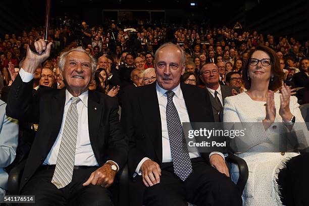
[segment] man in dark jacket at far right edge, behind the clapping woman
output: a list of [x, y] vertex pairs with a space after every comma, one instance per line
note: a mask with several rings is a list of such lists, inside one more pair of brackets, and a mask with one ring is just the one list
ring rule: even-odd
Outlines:
[[305, 87], [309, 81], [309, 58], [302, 58], [299, 62], [300, 72], [294, 74], [295, 87]]

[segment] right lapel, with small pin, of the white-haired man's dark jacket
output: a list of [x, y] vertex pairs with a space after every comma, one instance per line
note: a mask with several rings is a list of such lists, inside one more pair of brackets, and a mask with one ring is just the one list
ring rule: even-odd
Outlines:
[[[104, 105], [99, 104], [99, 98], [97, 94], [94, 91], [89, 90], [88, 94], [88, 129], [89, 129], [89, 139], [90, 144], [94, 153], [94, 157], [96, 161], [99, 163], [100, 156], [99, 156], [99, 148], [97, 146], [99, 145], [97, 142], [97, 131], [100, 126], [100, 120], [101, 117], [104, 115], [102, 114], [102, 111], [104, 110]], [[102, 135], [100, 138], [104, 138], [104, 135]]]

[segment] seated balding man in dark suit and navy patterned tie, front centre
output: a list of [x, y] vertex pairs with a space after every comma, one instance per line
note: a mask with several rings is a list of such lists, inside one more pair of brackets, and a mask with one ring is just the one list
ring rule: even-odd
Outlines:
[[[189, 152], [181, 122], [214, 122], [204, 89], [180, 84], [185, 54], [166, 43], [155, 55], [157, 82], [124, 97], [132, 205], [241, 205], [220, 152]], [[212, 167], [213, 166], [213, 167]]]

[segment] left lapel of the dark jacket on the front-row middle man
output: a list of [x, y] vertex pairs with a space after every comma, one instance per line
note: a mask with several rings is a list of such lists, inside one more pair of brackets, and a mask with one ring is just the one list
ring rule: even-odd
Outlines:
[[162, 161], [162, 126], [161, 115], [159, 109], [159, 101], [157, 96], [156, 83], [149, 85], [147, 89], [143, 89], [138, 96], [141, 109], [141, 115], [145, 121], [145, 131], [151, 136], [153, 135], [153, 144], [155, 147], [158, 160]]

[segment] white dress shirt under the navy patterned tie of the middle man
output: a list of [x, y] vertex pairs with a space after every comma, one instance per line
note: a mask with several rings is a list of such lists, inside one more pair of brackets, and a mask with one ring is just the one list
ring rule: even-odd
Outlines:
[[[158, 96], [158, 101], [159, 101], [161, 127], [162, 127], [162, 162], [168, 163], [168, 162], [172, 162], [172, 154], [171, 154], [170, 139], [169, 139], [168, 128], [167, 128], [167, 121], [166, 121], [167, 95], [165, 92], [167, 90], [161, 88], [158, 82], [156, 83], [156, 89], [157, 89], [157, 96]], [[178, 84], [178, 86], [172, 90], [175, 92], [175, 95], [173, 97], [173, 102], [177, 109], [180, 122], [181, 123], [190, 122], [185, 100], [183, 98], [183, 94], [180, 88], [180, 84]], [[195, 148], [194, 150], [197, 150], [197, 148]], [[224, 159], [223, 154], [220, 152], [212, 152], [210, 153], [210, 156], [213, 155], [214, 153], [218, 153]], [[197, 157], [200, 157], [200, 154], [198, 152], [189, 152], [189, 156], [190, 158], [197, 158]], [[135, 170], [136, 174], [141, 175], [140, 167], [146, 160], [149, 160], [149, 158], [145, 157], [139, 162]], [[133, 175], [133, 177], [134, 176], [135, 174]]]

